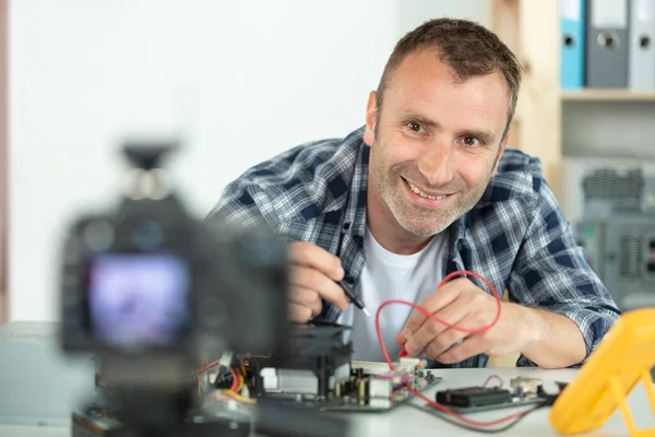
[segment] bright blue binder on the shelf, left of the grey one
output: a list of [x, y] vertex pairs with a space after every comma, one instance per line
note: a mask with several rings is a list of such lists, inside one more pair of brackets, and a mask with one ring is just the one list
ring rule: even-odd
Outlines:
[[560, 86], [584, 87], [585, 0], [560, 0]]

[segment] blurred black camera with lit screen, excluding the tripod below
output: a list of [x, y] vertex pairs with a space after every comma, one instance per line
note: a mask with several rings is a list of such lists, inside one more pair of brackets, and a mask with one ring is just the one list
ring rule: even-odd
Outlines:
[[[158, 167], [172, 144], [128, 144], [119, 208], [76, 220], [61, 274], [62, 347], [130, 358], [282, 352], [288, 338], [286, 243], [195, 220]], [[284, 356], [284, 355], [283, 355]]]

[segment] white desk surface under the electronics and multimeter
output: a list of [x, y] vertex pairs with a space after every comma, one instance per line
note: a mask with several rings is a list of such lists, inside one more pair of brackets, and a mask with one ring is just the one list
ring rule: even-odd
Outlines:
[[[437, 376], [443, 377], [443, 381], [432, 391], [429, 391], [428, 397], [432, 397], [437, 389], [463, 387], [469, 385], [481, 385], [489, 375], [498, 375], [508, 381], [516, 376], [528, 376], [541, 378], [544, 380], [553, 381], [571, 381], [576, 370], [560, 369], [560, 370], [544, 370], [531, 368], [503, 368], [503, 369], [437, 369]], [[413, 402], [421, 404], [422, 401], [415, 400]], [[638, 387], [629, 399], [630, 408], [638, 427], [653, 427], [655, 420], [646, 394], [641, 387]], [[500, 410], [496, 412], [486, 412], [473, 414], [469, 417], [479, 421], [489, 421], [503, 417], [519, 409]], [[500, 433], [499, 435], [508, 436], [560, 436], [550, 426], [548, 422], [549, 409], [537, 410], [529, 414], [521, 423], [511, 429]], [[413, 406], [402, 405], [386, 414], [349, 414], [352, 420], [353, 436], [377, 436], [377, 437], [397, 437], [397, 436], [480, 436], [481, 434], [462, 429], [455, 425], [449, 424], [439, 417], [434, 417], [428, 413], [424, 413]], [[429, 433], [429, 434], [428, 434]], [[311, 435], [309, 433], [308, 435]], [[56, 427], [27, 427], [27, 426], [0, 426], [0, 436], [12, 437], [70, 437], [69, 428]], [[609, 437], [609, 436], [628, 436], [623, 420], [618, 412], [597, 432], [577, 435], [577, 437]]]

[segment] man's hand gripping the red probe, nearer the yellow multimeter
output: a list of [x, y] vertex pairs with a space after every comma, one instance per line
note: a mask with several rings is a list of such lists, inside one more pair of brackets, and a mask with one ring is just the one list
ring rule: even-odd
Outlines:
[[[464, 277], [442, 285], [420, 305], [438, 318], [471, 330], [489, 326], [498, 312], [496, 298]], [[395, 341], [408, 355], [422, 351], [429, 359], [452, 364], [481, 353], [495, 356], [521, 352], [538, 341], [543, 332], [538, 323], [527, 308], [502, 303], [500, 319], [492, 328], [469, 334], [415, 310]]]

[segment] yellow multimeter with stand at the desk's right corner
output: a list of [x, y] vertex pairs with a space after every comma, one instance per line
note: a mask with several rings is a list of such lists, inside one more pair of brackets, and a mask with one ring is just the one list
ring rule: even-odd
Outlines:
[[618, 408], [631, 436], [655, 436], [655, 428], [636, 429], [627, 401], [642, 381], [655, 414], [654, 364], [655, 308], [624, 312], [559, 395], [550, 424], [561, 434], [585, 433], [602, 427]]

